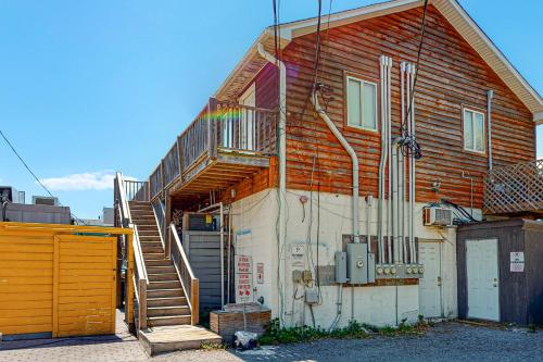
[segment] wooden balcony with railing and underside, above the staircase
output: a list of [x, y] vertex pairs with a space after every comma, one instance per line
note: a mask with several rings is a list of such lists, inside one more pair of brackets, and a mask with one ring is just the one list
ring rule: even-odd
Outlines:
[[210, 99], [149, 177], [150, 198], [166, 188], [198, 200], [269, 166], [276, 154], [277, 112]]

